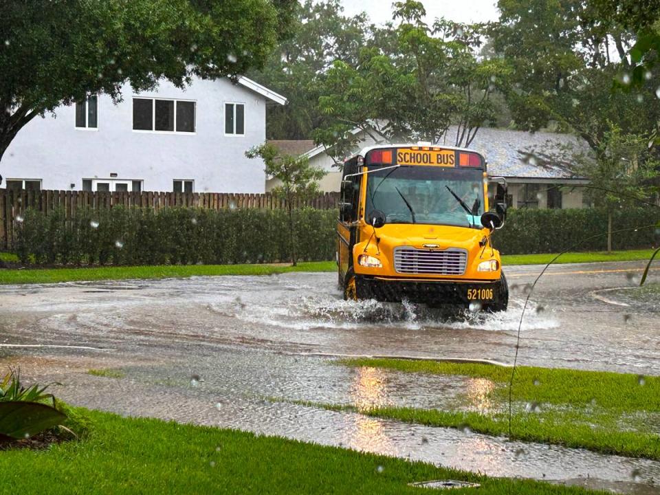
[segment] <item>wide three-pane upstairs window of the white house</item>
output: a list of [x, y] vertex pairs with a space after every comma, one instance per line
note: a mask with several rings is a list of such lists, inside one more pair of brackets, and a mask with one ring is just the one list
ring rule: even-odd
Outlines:
[[133, 130], [195, 132], [195, 102], [133, 98]]

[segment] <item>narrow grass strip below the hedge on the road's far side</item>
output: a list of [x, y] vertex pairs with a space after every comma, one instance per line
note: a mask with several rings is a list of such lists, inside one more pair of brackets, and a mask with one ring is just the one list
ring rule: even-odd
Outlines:
[[[583, 252], [563, 254], [556, 263], [591, 263], [602, 261], [635, 261], [650, 259], [652, 250]], [[4, 261], [18, 261], [15, 255], [0, 253]], [[12, 258], [13, 256], [13, 258]], [[502, 257], [506, 265], [538, 265], [548, 263], [555, 254], [512, 254]], [[315, 261], [289, 265], [155, 265], [131, 267], [25, 268], [0, 270], [0, 284], [58, 283], [74, 281], [125, 280], [148, 278], [185, 278], [208, 275], [271, 275], [287, 272], [334, 272], [334, 261]]]

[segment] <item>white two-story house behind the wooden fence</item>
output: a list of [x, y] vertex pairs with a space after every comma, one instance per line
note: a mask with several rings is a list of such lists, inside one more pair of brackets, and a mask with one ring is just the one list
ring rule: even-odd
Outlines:
[[90, 191], [264, 192], [266, 107], [286, 98], [242, 77], [162, 82], [123, 101], [107, 95], [34, 118], [0, 162], [0, 187]]

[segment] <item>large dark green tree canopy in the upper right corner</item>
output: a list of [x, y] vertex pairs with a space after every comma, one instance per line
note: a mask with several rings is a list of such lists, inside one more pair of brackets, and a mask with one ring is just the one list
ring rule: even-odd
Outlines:
[[[604, 14], [602, 1], [500, 0], [494, 48], [513, 69], [507, 93], [516, 123], [531, 131], [551, 120], [580, 135], [602, 153], [614, 127], [649, 135], [660, 118], [650, 73], [643, 91], [630, 84], [635, 30], [621, 16]], [[655, 83], [657, 85], [657, 83]]]

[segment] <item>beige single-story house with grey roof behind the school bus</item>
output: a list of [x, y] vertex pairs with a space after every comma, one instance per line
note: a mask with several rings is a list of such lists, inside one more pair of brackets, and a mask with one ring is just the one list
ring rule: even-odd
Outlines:
[[[365, 146], [377, 144], [371, 135], [355, 131], [360, 145], [353, 153]], [[439, 145], [452, 146], [450, 136]], [[384, 142], [382, 140], [380, 142]], [[326, 153], [325, 146], [315, 146], [313, 141], [270, 141], [289, 155], [305, 155], [309, 163], [322, 168], [327, 175], [320, 181], [324, 192], [340, 190], [340, 164]], [[479, 129], [470, 148], [482, 153], [487, 160], [490, 177], [505, 177], [509, 184], [507, 201], [512, 208], [583, 208], [588, 206], [583, 188], [586, 179], [575, 177], [566, 149], [584, 150], [586, 145], [573, 135], [511, 129]], [[275, 185], [274, 179], [266, 180], [266, 190]]]

